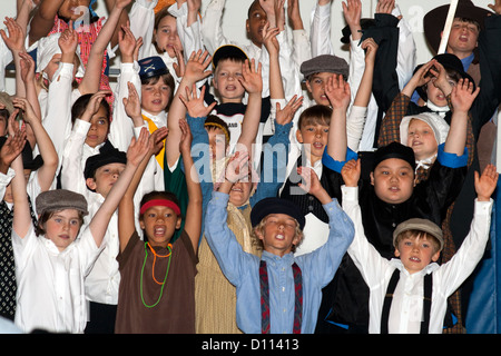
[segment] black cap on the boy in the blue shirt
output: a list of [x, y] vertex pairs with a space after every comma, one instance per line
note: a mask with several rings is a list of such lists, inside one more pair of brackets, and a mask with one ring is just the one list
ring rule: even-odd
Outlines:
[[304, 228], [306, 222], [304, 214], [296, 204], [287, 199], [271, 197], [261, 199], [250, 210], [250, 222], [253, 227], [257, 226], [269, 214], [288, 215], [297, 220], [301, 229]]

